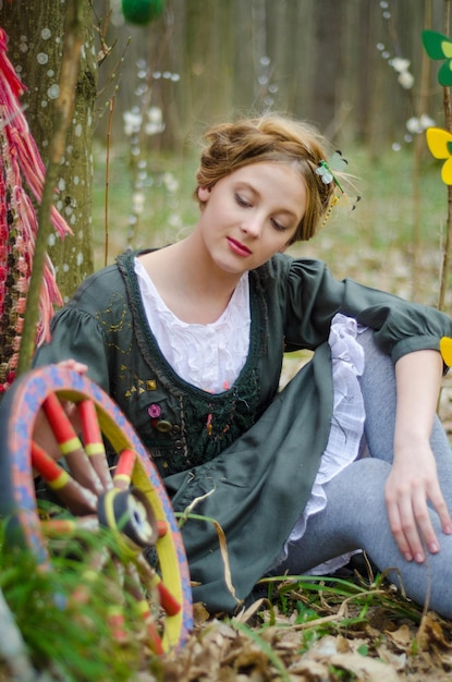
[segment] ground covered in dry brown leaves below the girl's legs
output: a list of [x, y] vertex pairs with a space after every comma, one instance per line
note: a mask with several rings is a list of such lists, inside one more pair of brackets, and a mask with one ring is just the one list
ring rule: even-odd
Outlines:
[[[399, 599], [386, 586], [390, 601]], [[363, 680], [447, 680], [452, 674], [452, 623], [426, 612], [419, 621], [398, 613], [371, 595], [365, 617], [362, 606], [329, 604], [325, 599], [317, 618], [300, 621], [265, 609], [245, 626], [246, 614], [234, 621], [198, 620], [185, 648], [162, 661], [151, 679], [232, 682], [335, 682]], [[296, 597], [295, 597], [296, 598]], [[410, 605], [408, 605], [410, 606]], [[410, 608], [407, 609], [410, 611]], [[199, 617], [199, 614], [198, 614]], [[354, 622], [356, 621], [356, 622]], [[327, 634], [321, 634], [328, 630]]]

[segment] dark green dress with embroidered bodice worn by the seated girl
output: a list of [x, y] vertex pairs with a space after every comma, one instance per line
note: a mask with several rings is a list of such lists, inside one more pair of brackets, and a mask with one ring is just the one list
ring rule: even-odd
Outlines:
[[[147, 322], [134, 273], [135, 253], [88, 278], [53, 318], [52, 339], [35, 364], [74, 357], [120, 405], [183, 512], [182, 535], [194, 599], [233, 612], [273, 565], [303, 513], [328, 442], [332, 414], [328, 336], [337, 313], [376, 330], [395, 362], [439, 350], [452, 320], [428, 306], [335, 280], [319, 260], [278, 254], [249, 272], [247, 361], [234, 385], [211, 394], [181, 379]], [[278, 391], [284, 351], [313, 360]], [[199, 499], [198, 499], [199, 498]]]

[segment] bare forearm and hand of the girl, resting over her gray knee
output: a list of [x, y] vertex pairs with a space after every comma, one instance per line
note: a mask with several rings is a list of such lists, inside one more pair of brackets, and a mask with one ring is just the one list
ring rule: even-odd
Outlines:
[[442, 531], [452, 534], [429, 442], [442, 367], [440, 353], [430, 350], [408, 353], [395, 364], [394, 460], [386, 484], [386, 503], [395, 541], [407, 561], [423, 562], [425, 548], [432, 553], [440, 549], [427, 500], [437, 511]]

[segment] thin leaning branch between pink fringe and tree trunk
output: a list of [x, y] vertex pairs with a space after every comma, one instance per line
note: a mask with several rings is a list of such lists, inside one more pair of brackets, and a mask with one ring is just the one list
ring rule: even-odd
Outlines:
[[58, 169], [64, 153], [65, 138], [74, 108], [75, 90], [78, 77], [81, 48], [83, 42], [82, 4], [83, 0], [69, 0], [66, 10], [66, 28], [64, 35], [63, 59], [60, 74], [60, 96], [56, 102], [54, 129], [49, 145], [49, 160], [42, 198], [38, 209], [38, 232], [36, 235], [33, 270], [27, 295], [24, 330], [17, 364], [17, 376], [27, 372], [36, 340], [39, 296], [42, 284], [45, 258], [50, 233], [50, 211], [54, 198]]

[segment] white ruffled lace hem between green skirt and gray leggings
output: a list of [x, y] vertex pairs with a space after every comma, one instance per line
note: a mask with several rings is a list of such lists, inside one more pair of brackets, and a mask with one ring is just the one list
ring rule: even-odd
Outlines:
[[[356, 338], [364, 327], [344, 315], [335, 315], [328, 342], [331, 348], [333, 378], [333, 414], [327, 448], [314, 482], [310, 498], [283, 549], [281, 560], [288, 556], [288, 543], [300, 541], [307, 520], [327, 506], [323, 486], [359, 455], [365, 410], [357, 377], [364, 372], [364, 351]], [[356, 552], [337, 557], [309, 571], [314, 575], [330, 573], [350, 560]]]

